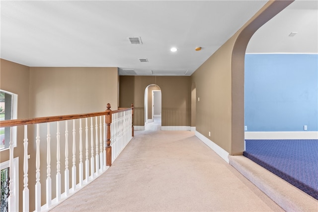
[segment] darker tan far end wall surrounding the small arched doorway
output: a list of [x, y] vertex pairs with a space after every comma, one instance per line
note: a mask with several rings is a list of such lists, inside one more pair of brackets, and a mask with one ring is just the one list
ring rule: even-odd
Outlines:
[[[190, 77], [120, 76], [120, 100], [134, 101], [134, 125], [145, 125], [145, 89], [153, 84], [161, 89], [161, 125], [190, 126]], [[131, 90], [134, 91], [133, 98]], [[128, 107], [128, 104], [127, 101], [120, 102], [121, 107]]]

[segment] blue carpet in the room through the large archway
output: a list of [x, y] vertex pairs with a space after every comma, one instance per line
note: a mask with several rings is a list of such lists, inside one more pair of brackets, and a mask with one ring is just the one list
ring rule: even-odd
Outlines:
[[318, 200], [318, 140], [245, 140], [243, 155]]

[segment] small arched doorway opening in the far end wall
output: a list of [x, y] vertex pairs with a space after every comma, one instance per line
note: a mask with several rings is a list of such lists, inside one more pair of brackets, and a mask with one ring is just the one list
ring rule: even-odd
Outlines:
[[155, 84], [145, 90], [145, 126], [151, 122], [161, 126], [161, 89]]

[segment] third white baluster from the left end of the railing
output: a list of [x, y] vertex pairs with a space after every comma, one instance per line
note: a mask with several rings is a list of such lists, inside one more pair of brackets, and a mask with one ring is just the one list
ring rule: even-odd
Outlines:
[[40, 183], [40, 130], [36, 124], [36, 184], [35, 184], [35, 211], [41, 211], [41, 183]]

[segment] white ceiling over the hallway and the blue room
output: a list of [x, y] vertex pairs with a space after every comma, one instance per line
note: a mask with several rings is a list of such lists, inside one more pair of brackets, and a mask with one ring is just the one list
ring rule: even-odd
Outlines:
[[[266, 2], [1, 0], [0, 57], [30, 67], [190, 76]], [[253, 35], [246, 52], [318, 53], [317, 11], [317, 0], [296, 0]]]

